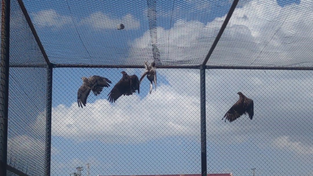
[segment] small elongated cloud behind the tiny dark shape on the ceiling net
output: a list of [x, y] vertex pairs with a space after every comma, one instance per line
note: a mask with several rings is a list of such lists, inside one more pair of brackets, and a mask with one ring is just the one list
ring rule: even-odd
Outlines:
[[95, 12], [90, 14], [87, 18], [81, 20], [82, 24], [90, 25], [95, 29], [116, 29], [119, 24], [124, 24], [125, 29], [138, 29], [140, 22], [134, 18], [130, 13], [122, 18], [111, 18], [102, 12]]

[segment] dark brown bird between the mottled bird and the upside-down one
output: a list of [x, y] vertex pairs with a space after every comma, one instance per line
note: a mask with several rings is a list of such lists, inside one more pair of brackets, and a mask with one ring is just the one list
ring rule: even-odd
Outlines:
[[138, 90], [139, 94], [139, 79], [136, 75], [127, 75], [125, 71], [122, 71], [121, 74], [123, 74], [121, 80], [119, 80], [110, 93], [108, 94], [109, 102], [115, 102], [120, 96], [122, 95], [132, 95], [133, 93]]

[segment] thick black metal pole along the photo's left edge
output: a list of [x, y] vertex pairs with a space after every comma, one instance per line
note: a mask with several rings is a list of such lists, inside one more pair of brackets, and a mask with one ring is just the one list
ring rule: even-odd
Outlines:
[[0, 175], [6, 176], [8, 155], [10, 0], [2, 0], [1, 6]]

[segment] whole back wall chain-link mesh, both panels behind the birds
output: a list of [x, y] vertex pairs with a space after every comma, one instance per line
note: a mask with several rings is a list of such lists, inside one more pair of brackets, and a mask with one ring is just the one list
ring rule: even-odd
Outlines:
[[[200, 173], [199, 70], [158, 69], [156, 91], [149, 94], [145, 78], [139, 95], [111, 104], [122, 70], [54, 70], [51, 174], [82, 166], [85, 175], [86, 163], [91, 175]], [[112, 84], [81, 109], [77, 89], [89, 75]], [[208, 173], [312, 174], [311, 78], [311, 71], [207, 70]], [[238, 91], [254, 100], [254, 118], [225, 123]]]

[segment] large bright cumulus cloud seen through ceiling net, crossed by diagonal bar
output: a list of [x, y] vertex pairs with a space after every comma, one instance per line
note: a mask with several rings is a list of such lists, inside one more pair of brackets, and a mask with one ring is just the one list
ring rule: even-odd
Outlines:
[[[235, 9], [209, 65], [312, 66], [313, 3], [309, 0], [284, 7], [276, 0], [245, 2]], [[163, 64], [200, 64], [208, 54], [226, 14], [212, 22], [178, 19], [170, 29], [158, 27], [157, 46]], [[151, 49], [149, 31], [131, 43]], [[150, 46], [150, 47], [148, 47]], [[141, 52], [131, 58], [144, 60]]]

